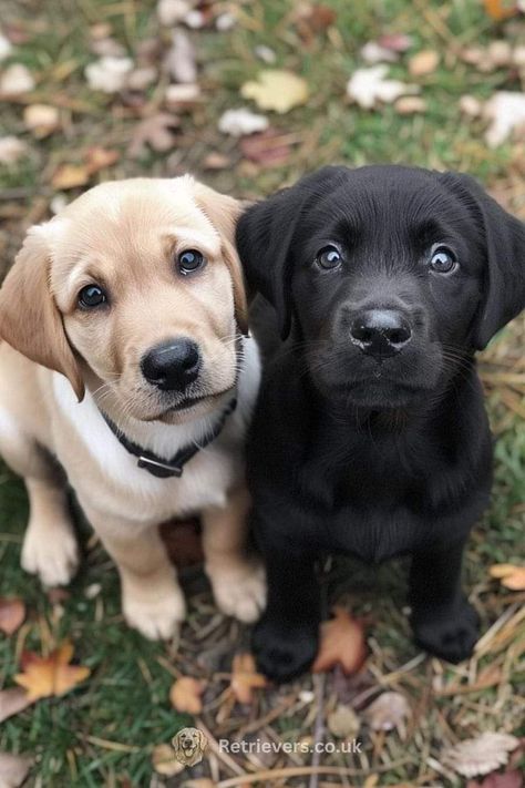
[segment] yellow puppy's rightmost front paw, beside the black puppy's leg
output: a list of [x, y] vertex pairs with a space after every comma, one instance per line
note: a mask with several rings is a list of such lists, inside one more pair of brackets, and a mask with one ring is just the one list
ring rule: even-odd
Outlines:
[[220, 569], [207, 566], [218, 607], [235, 618], [251, 624], [266, 605], [266, 576], [262, 566], [246, 562]]

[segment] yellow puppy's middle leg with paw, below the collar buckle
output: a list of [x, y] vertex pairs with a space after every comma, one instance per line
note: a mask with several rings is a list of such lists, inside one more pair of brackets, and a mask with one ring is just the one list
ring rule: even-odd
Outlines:
[[176, 636], [186, 605], [158, 528], [144, 528], [81, 504], [119, 570], [128, 625], [151, 641]]

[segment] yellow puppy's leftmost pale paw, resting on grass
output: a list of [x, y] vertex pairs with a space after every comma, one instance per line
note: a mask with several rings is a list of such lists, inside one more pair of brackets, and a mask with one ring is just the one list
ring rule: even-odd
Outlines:
[[30, 523], [23, 540], [22, 569], [43, 585], [68, 585], [79, 565], [79, 547], [69, 523]]

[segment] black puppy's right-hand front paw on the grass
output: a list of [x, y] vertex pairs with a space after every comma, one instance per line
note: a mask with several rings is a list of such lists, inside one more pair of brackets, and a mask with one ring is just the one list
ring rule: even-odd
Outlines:
[[419, 646], [441, 659], [459, 663], [472, 655], [478, 637], [480, 616], [466, 600], [460, 600], [447, 607], [414, 610], [412, 628]]

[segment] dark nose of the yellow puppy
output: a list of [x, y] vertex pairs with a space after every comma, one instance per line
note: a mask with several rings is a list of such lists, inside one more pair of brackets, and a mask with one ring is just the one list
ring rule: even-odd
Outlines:
[[191, 339], [172, 339], [143, 356], [142, 373], [163, 391], [184, 391], [196, 380], [200, 368], [198, 347]]

